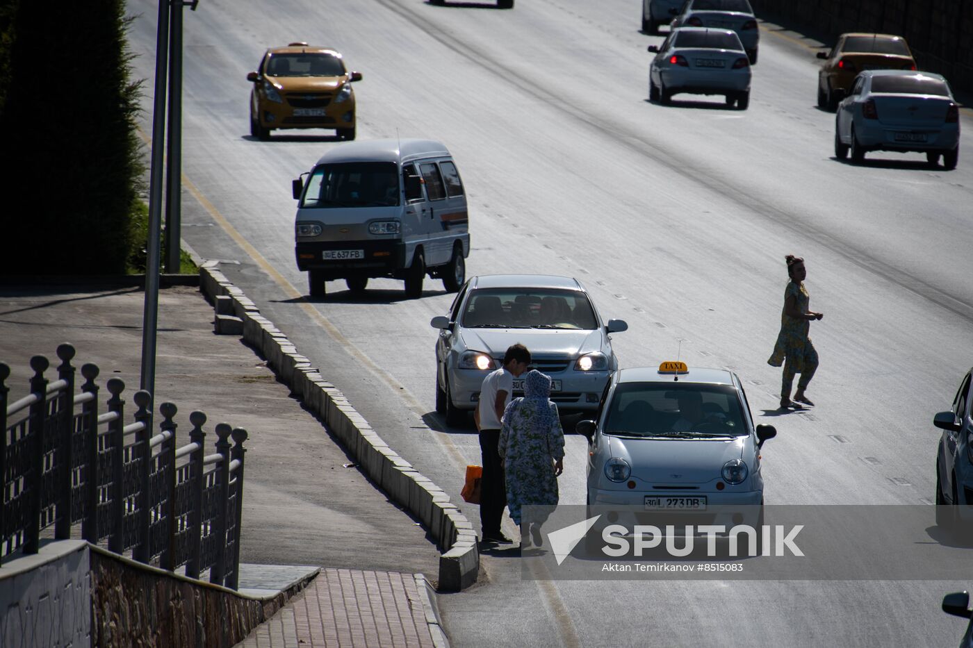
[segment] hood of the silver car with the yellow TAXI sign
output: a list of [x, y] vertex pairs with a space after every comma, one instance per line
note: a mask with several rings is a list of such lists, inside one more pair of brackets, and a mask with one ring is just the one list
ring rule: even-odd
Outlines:
[[719, 479], [723, 464], [742, 458], [746, 443], [745, 438], [605, 438], [611, 455], [629, 462], [633, 478], [656, 485], [705, 484]]

